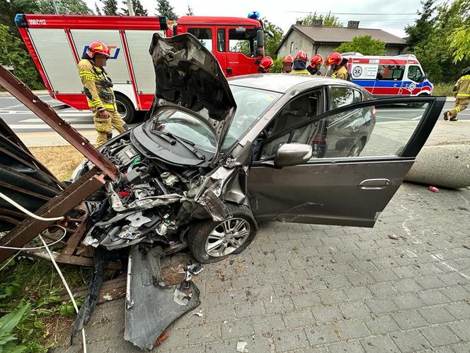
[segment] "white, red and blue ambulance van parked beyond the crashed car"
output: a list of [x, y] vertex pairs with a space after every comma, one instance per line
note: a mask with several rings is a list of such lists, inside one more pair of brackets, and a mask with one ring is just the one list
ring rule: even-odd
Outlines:
[[434, 86], [414, 55], [394, 57], [343, 53], [348, 59], [350, 80], [377, 98], [432, 94]]

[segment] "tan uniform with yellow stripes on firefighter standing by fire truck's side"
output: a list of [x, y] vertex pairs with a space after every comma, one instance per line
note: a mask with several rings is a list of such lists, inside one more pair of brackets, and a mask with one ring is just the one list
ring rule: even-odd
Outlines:
[[[96, 143], [102, 145], [113, 138], [112, 128], [118, 133], [124, 133], [127, 125], [117, 113], [113, 84], [105, 69], [96, 67], [91, 60], [82, 59], [79, 62], [79, 76], [84, 85], [88, 106], [93, 113], [93, 122], [98, 133]], [[107, 111], [110, 118], [101, 117], [101, 111]]]

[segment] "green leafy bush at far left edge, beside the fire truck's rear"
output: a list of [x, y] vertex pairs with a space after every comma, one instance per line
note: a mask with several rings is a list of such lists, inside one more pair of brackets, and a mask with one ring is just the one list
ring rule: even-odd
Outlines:
[[11, 67], [13, 74], [30, 89], [44, 89], [38, 70], [35, 68], [23, 42], [11, 33], [10, 28], [0, 24], [0, 64]]

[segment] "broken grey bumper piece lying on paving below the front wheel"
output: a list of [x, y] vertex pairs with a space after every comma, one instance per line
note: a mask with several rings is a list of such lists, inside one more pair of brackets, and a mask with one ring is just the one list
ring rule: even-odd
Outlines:
[[135, 245], [129, 255], [124, 339], [151, 350], [166, 327], [200, 305], [199, 289], [190, 276], [167, 285], [161, 276], [161, 247]]

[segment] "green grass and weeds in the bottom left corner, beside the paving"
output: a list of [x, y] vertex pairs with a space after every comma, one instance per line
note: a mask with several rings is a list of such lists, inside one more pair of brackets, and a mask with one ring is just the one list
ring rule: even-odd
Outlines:
[[[88, 270], [64, 264], [59, 267], [71, 288], [88, 281]], [[60, 299], [63, 290], [52, 262], [45, 259], [18, 256], [0, 270], [0, 317], [30, 306], [12, 332], [16, 344], [25, 347], [21, 352], [47, 352], [55, 344], [56, 331], [62, 329], [62, 325], [57, 328], [58, 323], [69, 325], [71, 320], [63, 320], [64, 316], [74, 318], [71, 302]], [[1, 348], [0, 342], [0, 352]]]

